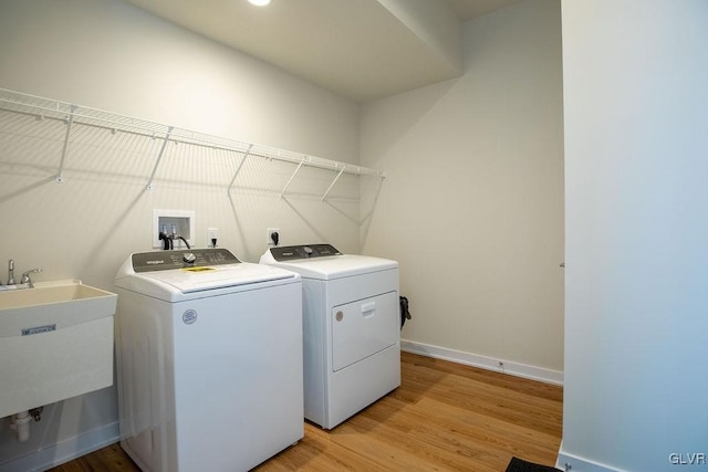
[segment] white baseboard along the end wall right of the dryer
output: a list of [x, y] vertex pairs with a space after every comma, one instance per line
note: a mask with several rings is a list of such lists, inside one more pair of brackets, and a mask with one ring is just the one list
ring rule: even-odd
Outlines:
[[559, 370], [545, 369], [542, 367], [528, 366], [525, 364], [513, 363], [511, 360], [480, 356], [478, 354], [464, 353], [461, 350], [448, 349], [446, 347], [431, 346], [429, 344], [415, 343], [400, 339], [400, 350], [419, 354], [421, 356], [434, 357], [436, 359], [449, 360], [467, 366], [480, 367], [487, 370], [509, 374], [546, 384], [563, 385], [563, 373]]

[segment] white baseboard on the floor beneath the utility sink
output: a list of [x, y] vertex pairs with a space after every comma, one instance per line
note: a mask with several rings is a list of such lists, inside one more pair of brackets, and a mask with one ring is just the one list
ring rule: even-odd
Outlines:
[[51, 444], [32, 454], [24, 455], [0, 465], [2, 472], [45, 471], [61, 465], [97, 449], [117, 442], [119, 439], [118, 422], [104, 424], [92, 431], [83, 432], [65, 441]]

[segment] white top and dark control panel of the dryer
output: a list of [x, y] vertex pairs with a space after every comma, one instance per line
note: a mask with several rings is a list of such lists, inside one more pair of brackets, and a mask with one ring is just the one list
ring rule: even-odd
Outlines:
[[[312, 252], [308, 249], [312, 249]], [[324, 252], [325, 249], [330, 254]], [[305, 279], [325, 281], [398, 269], [396, 261], [368, 255], [342, 254], [329, 244], [270, 248], [261, 256], [260, 262], [296, 272]]]

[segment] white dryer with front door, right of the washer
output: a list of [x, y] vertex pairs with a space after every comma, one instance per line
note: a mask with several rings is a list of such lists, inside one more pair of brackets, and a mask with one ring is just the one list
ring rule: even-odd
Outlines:
[[302, 276], [304, 416], [332, 429], [400, 385], [398, 263], [331, 244], [270, 248]]

